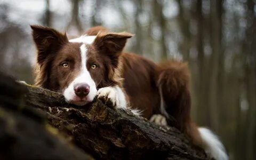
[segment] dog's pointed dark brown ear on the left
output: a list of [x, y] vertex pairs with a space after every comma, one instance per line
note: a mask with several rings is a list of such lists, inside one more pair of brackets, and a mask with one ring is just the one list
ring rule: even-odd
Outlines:
[[42, 63], [49, 54], [57, 52], [60, 47], [68, 43], [66, 34], [43, 26], [30, 26], [33, 30], [33, 39], [38, 51], [37, 62]]

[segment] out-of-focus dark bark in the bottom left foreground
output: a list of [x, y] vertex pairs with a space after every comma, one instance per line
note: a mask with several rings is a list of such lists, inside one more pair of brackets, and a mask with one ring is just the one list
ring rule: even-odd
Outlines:
[[0, 75], [0, 159], [92, 159], [58, 136], [38, 110], [25, 107], [26, 92]]

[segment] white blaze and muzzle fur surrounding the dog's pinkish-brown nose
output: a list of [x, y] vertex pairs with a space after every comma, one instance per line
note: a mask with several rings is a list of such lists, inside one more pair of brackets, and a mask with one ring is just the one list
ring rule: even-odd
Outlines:
[[[95, 82], [93, 81], [89, 71], [86, 68], [87, 49], [85, 44], [81, 45], [80, 50], [81, 50], [81, 60], [82, 60], [80, 74], [74, 79], [73, 82], [69, 84], [67, 89], [65, 89], [63, 95], [66, 101], [72, 102], [78, 106], [83, 106], [94, 99], [97, 93], [97, 89], [96, 89]], [[86, 83], [87, 85], [90, 86], [90, 92], [85, 98], [83, 98], [83, 100], [79, 100], [74, 91], [74, 86], [78, 83]]]

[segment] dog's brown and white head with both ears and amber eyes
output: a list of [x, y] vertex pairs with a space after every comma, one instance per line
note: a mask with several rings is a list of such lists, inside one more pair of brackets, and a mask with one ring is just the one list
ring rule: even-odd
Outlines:
[[31, 26], [37, 47], [36, 85], [60, 91], [75, 105], [91, 102], [97, 89], [115, 85], [115, 70], [127, 33], [99, 32], [68, 40], [66, 34]]

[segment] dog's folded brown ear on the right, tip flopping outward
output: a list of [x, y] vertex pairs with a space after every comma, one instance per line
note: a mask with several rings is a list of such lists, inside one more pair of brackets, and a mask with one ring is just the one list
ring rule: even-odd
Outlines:
[[119, 55], [124, 49], [126, 41], [133, 35], [130, 33], [109, 33], [108, 31], [99, 31], [94, 39], [93, 45], [101, 52], [108, 55]]

